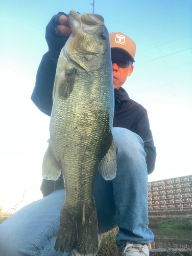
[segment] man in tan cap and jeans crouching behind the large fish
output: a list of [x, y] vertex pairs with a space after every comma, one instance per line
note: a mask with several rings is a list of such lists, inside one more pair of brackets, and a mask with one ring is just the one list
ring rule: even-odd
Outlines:
[[[63, 12], [55, 15], [46, 27], [49, 52], [41, 60], [32, 100], [47, 115], [51, 115], [52, 110], [57, 59], [70, 33]], [[122, 255], [147, 256], [148, 244], [154, 240], [147, 227], [148, 174], [154, 170], [156, 149], [147, 111], [122, 88], [133, 72], [135, 43], [123, 33], [110, 33], [110, 44], [115, 95], [112, 133], [117, 174], [112, 181], [105, 181], [99, 173], [95, 179], [99, 232], [118, 226], [116, 244]], [[43, 180], [41, 191], [43, 199], [22, 208], [0, 226], [2, 255], [79, 255], [73, 251], [62, 254], [54, 249], [65, 199], [62, 177], [56, 184]]]

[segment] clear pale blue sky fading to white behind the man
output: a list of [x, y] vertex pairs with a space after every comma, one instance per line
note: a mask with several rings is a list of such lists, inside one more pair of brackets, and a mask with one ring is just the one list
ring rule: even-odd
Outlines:
[[[91, 0], [1, 0], [0, 206], [19, 208], [42, 197], [41, 164], [50, 117], [30, 97], [42, 55], [45, 27], [54, 14], [92, 12]], [[109, 32], [137, 46], [134, 72], [123, 88], [148, 111], [157, 148], [149, 181], [192, 174], [192, 1], [95, 0]]]

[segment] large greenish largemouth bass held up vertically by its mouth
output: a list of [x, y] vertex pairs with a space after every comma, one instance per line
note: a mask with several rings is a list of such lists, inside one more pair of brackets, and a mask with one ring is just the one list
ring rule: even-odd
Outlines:
[[76, 249], [87, 256], [99, 250], [93, 197], [97, 171], [105, 180], [116, 176], [112, 62], [101, 15], [74, 12], [67, 19], [72, 32], [57, 63], [42, 176], [64, 179], [66, 197], [56, 251]]

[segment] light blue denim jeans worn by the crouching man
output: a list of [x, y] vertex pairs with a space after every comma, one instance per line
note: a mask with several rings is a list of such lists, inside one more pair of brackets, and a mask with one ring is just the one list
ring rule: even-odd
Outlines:
[[[105, 181], [97, 173], [94, 200], [98, 213], [99, 232], [118, 226], [116, 244], [119, 250], [126, 241], [138, 244], [153, 242], [148, 225], [148, 173], [143, 141], [131, 131], [112, 130], [117, 160], [117, 174]], [[35, 201], [0, 225], [0, 256], [49, 255], [71, 256], [56, 252], [60, 210], [65, 200], [61, 189]]]

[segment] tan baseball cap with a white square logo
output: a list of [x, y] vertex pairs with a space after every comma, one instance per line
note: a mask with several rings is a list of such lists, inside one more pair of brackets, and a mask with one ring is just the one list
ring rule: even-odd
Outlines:
[[109, 33], [110, 47], [111, 48], [120, 48], [128, 53], [133, 62], [135, 62], [135, 51], [136, 45], [135, 42], [127, 35], [121, 32]]

